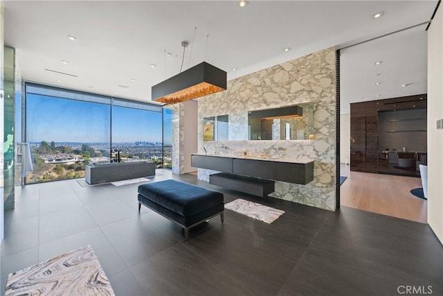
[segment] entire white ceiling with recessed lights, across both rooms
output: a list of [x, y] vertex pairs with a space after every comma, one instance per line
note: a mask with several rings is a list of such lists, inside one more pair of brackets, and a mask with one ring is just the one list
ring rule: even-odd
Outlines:
[[[152, 85], [179, 73], [183, 40], [190, 42], [183, 70], [205, 60], [232, 79], [421, 24], [436, 3], [250, 1], [239, 8], [237, 1], [4, 1], [5, 45], [16, 49], [24, 80], [150, 101]], [[383, 17], [372, 19], [380, 11]], [[426, 92], [425, 27], [343, 49], [342, 113], [353, 101]], [[411, 85], [399, 87], [405, 83]]]

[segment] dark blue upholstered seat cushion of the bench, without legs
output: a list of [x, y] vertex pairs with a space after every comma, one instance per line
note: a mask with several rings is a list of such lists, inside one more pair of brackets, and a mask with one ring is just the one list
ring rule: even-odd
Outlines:
[[184, 217], [223, 204], [222, 193], [176, 180], [140, 185], [138, 193]]

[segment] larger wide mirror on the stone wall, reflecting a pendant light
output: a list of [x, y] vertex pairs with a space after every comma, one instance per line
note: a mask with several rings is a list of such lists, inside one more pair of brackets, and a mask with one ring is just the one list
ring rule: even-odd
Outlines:
[[248, 112], [249, 140], [309, 140], [313, 137], [313, 103]]

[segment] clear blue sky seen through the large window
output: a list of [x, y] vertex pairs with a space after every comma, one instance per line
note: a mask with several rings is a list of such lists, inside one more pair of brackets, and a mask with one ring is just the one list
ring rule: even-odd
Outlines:
[[[162, 141], [162, 114], [114, 107], [112, 141]], [[26, 141], [108, 142], [110, 106], [28, 94]], [[170, 132], [168, 132], [170, 134]]]

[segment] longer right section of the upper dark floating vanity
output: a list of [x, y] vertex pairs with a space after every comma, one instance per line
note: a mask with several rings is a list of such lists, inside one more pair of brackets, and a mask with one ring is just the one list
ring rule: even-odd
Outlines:
[[233, 159], [233, 173], [296, 184], [314, 180], [314, 162], [307, 164], [256, 159]]

